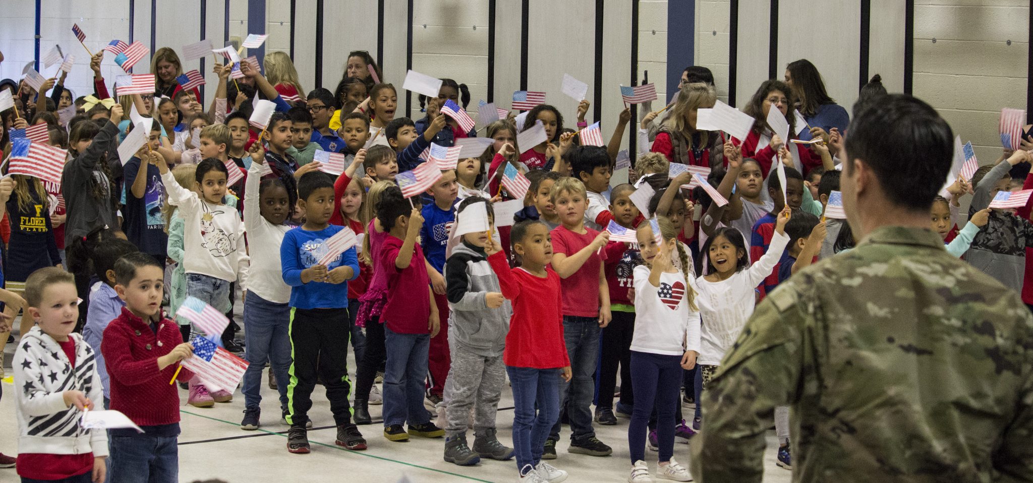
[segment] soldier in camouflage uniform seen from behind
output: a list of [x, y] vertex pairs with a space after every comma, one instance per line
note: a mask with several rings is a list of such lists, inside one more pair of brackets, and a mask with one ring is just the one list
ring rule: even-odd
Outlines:
[[1033, 481], [1033, 317], [929, 229], [950, 128], [909, 96], [876, 104], [843, 156], [862, 242], [758, 305], [702, 395], [697, 481], [761, 481], [784, 405], [794, 482]]

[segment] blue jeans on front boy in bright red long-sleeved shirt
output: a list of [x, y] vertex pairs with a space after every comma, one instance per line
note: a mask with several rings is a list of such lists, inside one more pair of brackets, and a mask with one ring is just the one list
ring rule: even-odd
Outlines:
[[520, 471], [541, 461], [549, 432], [560, 419], [560, 369], [507, 365], [506, 373], [512, 384], [513, 450]]

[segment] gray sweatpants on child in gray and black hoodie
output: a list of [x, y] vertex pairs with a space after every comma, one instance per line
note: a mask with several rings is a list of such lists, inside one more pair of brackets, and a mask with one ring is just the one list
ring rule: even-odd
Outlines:
[[470, 409], [474, 408], [473, 427], [474, 432], [479, 434], [495, 427], [495, 413], [506, 381], [506, 366], [502, 363], [502, 356], [484, 357], [456, 344], [451, 346], [451, 367], [443, 400], [448, 423], [445, 433], [449, 438], [466, 433]]

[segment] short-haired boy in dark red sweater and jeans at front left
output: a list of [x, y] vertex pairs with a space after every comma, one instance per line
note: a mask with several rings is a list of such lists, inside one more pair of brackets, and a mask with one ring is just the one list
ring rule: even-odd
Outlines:
[[[164, 272], [154, 257], [135, 252], [115, 262], [115, 291], [126, 302], [104, 329], [100, 351], [111, 377], [111, 409], [144, 429], [112, 429], [111, 480], [179, 481], [180, 395], [171, 384], [180, 360], [193, 356], [180, 328], [161, 313]], [[180, 371], [176, 379], [189, 381]]]

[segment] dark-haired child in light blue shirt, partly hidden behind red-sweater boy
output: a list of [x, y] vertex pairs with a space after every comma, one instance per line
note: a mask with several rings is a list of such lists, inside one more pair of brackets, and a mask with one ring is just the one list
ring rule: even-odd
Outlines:
[[83, 340], [96, 348], [97, 373], [104, 392], [104, 408], [109, 407], [112, 398], [107, 366], [104, 365], [104, 355], [100, 352], [100, 342], [104, 329], [118, 319], [122, 308], [126, 307], [118, 292], [115, 291], [115, 262], [124, 255], [133, 253], [136, 247], [125, 239], [112, 239], [101, 244], [93, 251], [93, 268], [98, 279], [90, 288], [90, 310], [86, 315], [86, 325], [83, 327]]

